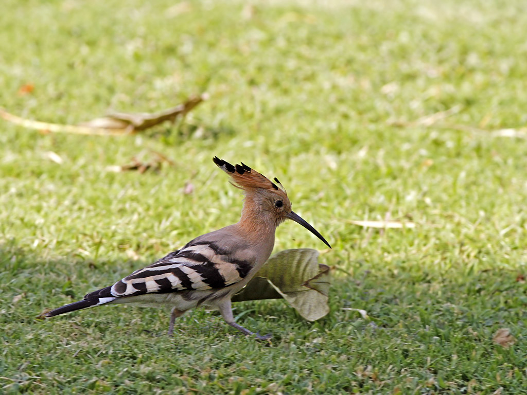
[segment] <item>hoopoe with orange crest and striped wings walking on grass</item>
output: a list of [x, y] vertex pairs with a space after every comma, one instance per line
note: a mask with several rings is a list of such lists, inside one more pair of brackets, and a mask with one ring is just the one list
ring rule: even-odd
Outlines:
[[235, 322], [231, 298], [269, 258], [278, 225], [290, 219], [315, 234], [329, 248], [331, 246], [313, 226], [291, 210], [287, 192], [276, 177], [273, 182], [243, 162], [232, 165], [217, 156], [213, 157], [213, 162], [245, 195], [239, 222], [198, 236], [180, 250], [170, 252], [113, 285], [47, 312], [46, 317], [104, 304], [168, 305], [172, 308], [168, 329], [171, 336], [176, 318], [187, 310], [204, 306], [219, 310], [227, 324], [242, 333], [260, 340], [269, 339], [270, 335], [253, 333]]

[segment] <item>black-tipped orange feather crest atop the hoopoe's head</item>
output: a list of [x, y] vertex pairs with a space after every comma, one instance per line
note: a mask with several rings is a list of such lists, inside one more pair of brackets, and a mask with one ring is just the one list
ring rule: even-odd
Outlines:
[[241, 164], [231, 165], [229, 162], [219, 159], [217, 156], [214, 156], [212, 160], [221, 170], [232, 177], [235, 186], [238, 186], [245, 191], [262, 188], [272, 192], [281, 191], [287, 195], [284, 187], [280, 184], [278, 179], [275, 178], [275, 184], [265, 175], [251, 169], [243, 162], [241, 162]]

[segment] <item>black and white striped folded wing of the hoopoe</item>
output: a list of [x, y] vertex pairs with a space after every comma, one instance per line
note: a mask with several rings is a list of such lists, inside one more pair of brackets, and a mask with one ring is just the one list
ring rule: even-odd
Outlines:
[[244, 279], [251, 262], [233, 259], [211, 242], [192, 241], [179, 251], [136, 270], [110, 288], [114, 297], [221, 289]]

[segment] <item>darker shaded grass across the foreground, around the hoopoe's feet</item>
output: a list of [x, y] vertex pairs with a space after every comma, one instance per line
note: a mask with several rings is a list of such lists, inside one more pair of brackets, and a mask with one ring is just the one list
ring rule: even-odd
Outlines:
[[[428, 380], [433, 390], [457, 390], [473, 377], [493, 391], [522, 385], [515, 367], [527, 358], [525, 296], [514, 276], [497, 270], [464, 278], [372, 268], [356, 270], [353, 277], [335, 275], [331, 311], [316, 322], [302, 319], [284, 300], [236, 303], [240, 324], [272, 333], [262, 344], [203, 309], [179, 318], [172, 339], [166, 337], [169, 312], [157, 309], [121, 305], [35, 319], [45, 308], [80, 299], [150, 262], [45, 260], [4, 244], [0, 263], [5, 348], [0, 376], [10, 380], [6, 386], [37, 388], [41, 381], [57, 388], [86, 386], [94, 374], [118, 382], [124, 374], [133, 383], [150, 371], [165, 372], [169, 361], [164, 380], [172, 379], [174, 370], [200, 382], [202, 370], [227, 369], [230, 378], [247, 369], [255, 375], [297, 369], [344, 377], [341, 385], [357, 389], [395, 384], [411, 389]], [[367, 317], [354, 309], [365, 310]], [[519, 339], [510, 349], [492, 341], [503, 327]], [[331, 373], [327, 366], [337, 370]], [[65, 382], [65, 375], [73, 379]], [[158, 373], [147, 376], [148, 382], [155, 380]]]

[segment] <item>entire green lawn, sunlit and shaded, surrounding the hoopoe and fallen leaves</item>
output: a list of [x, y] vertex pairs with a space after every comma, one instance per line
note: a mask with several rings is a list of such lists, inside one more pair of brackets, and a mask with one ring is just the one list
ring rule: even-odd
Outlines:
[[[10, 112], [77, 123], [211, 98], [129, 137], [0, 124], [0, 392], [524, 393], [527, 141], [491, 131], [527, 121], [525, 3], [250, 4], [7, 0]], [[411, 124], [454, 106], [448, 124], [481, 130]], [[106, 170], [150, 150], [175, 165]], [[277, 176], [333, 245], [326, 318], [237, 304], [270, 344], [201, 310], [173, 339], [158, 310], [36, 319], [236, 222], [241, 195], [214, 155]], [[387, 215], [417, 226], [349, 223]], [[286, 223], [275, 249], [289, 248], [323, 244]], [[492, 341], [500, 328], [509, 349]]]

